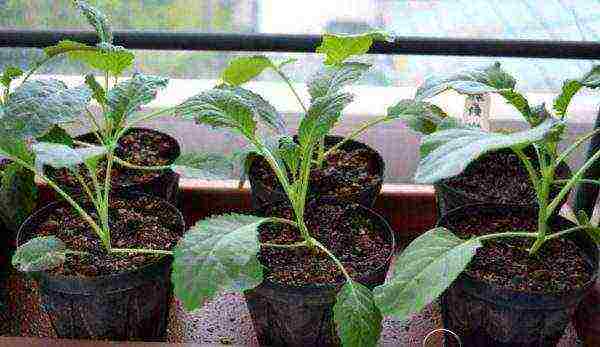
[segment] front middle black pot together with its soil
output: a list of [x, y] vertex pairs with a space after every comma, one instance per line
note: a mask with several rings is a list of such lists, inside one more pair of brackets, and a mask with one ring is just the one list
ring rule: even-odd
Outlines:
[[[291, 218], [279, 204], [273, 216]], [[312, 236], [331, 250], [350, 276], [373, 288], [383, 283], [394, 240], [380, 216], [358, 204], [312, 205], [307, 227]], [[289, 244], [301, 241], [296, 229], [266, 224], [259, 229], [261, 242]], [[337, 346], [332, 309], [344, 277], [323, 252], [307, 248], [262, 247], [263, 283], [246, 291], [258, 341], [263, 346]]]

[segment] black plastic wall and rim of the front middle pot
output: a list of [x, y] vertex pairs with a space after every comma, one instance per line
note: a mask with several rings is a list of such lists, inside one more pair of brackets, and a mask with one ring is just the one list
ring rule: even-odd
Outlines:
[[[330, 199], [319, 200], [328, 201]], [[345, 202], [337, 204], [346, 205]], [[395, 249], [394, 233], [385, 219], [374, 211], [356, 205], [380, 227], [386, 241]], [[368, 288], [383, 284], [392, 252], [385, 264], [361, 276]], [[264, 264], [268, 266], [267, 264]], [[333, 322], [333, 305], [343, 283], [336, 285], [287, 286], [264, 280], [244, 293], [254, 330], [261, 346], [339, 346]]]

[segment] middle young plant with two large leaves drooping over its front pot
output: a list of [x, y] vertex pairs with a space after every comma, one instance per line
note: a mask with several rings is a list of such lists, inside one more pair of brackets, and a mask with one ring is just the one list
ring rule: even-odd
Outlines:
[[[309, 189], [313, 155], [322, 151], [325, 136], [342, 115], [353, 96], [344, 87], [368, 69], [367, 64], [347, 62], [356, 54], [365, 53], [381, 34], [359, 36], [326, 35], [318, 52], [327, 55], [329, 64], [308, 83], [310, 105], [303, 104], [282, 67], [292, 60], [275, 63], [265, 56], [234, 59], [222, 74], [224, 84], [185, 101], [178, 116], [194, 119], [199, 124], [228, 129], [243, 136], [250, 152], [262, 156], [277, 176], [293, 210], [293, 220], [253, 215], [225, 214], [198, 222], [184, 236], [174, 251], [172, 280], [175, 294], [188, 310], [201, 307], [223, 292], [243, 292], [263, 281], [263, 268], [258, 260], [261, 247], [305, 247], [326, 254], [344, 275], [345, 283], [337, 294], [334, 320], [345, 346], [374, 346], [381, 332], [382, 316], [373, 293], [355, 281], [341, 261], [323, 244], [311, 236], [305, 222], [306, 197]], [[240, 87], [272, 69], [288, 84], [305, 114], [298, 127], [297, 140], [285, 133], [282, 117], [276, 109], [256, 93]], [[396, 108], [353, 132], [360, 134], [377, 123], [397, 119], [404, 110]], [[266, 125], [272, 133], [260, 132]], [[265, 223], [284, 223], [297, 228], [302, 241], [294, 244], [259, 242], [258, 229]]]

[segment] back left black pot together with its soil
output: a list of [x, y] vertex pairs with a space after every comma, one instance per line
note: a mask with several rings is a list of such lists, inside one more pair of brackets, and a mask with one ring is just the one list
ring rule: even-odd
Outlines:
[[[93, 134], [76, 138], [79, 141], [97, 144]], [[119, 139], [115, 154], [118, 158], [139, 166], [164, 166], [172, 164], [180, 154], [180, 147], [173, 137], [153, 129], [132, 128]], [[49, 177], [56, 179], [61, 187], [81, 194], [77, 179], [67, 169], [45, 168]], [[87, 170], [82, 166], [81, 174], [87, 179]], [[99, 164], [98, 177], [105, 176], [106, 162]], [[115, 192], [138, 192], [176, 202], [179, 176], [171, 170], [136, 170], [113, 163], [112, 183]], [[91, 180], [90, 180], [91, 182]], [[88, 182], [89, 183], [89, 182]]]

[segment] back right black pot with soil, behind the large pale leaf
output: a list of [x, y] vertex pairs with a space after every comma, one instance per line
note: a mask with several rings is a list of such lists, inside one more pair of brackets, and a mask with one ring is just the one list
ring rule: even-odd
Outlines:
[[[535, 158], [531, 152], [529, 150], [527, 154]], [[534, 165], [537, 167], [536, 162]], [[566, 178], [569, 174], [566, 164], [558, 167], [557, 177]], [[533, 205], [537, 201], [527, 170], [511, 149], [484, 154], [461, 175], [437, 183], [435, 191], [438, 216], [469, 204]], [[550, 195], [554, 197], [559, 191], [560, 187], [557, 186]]]

